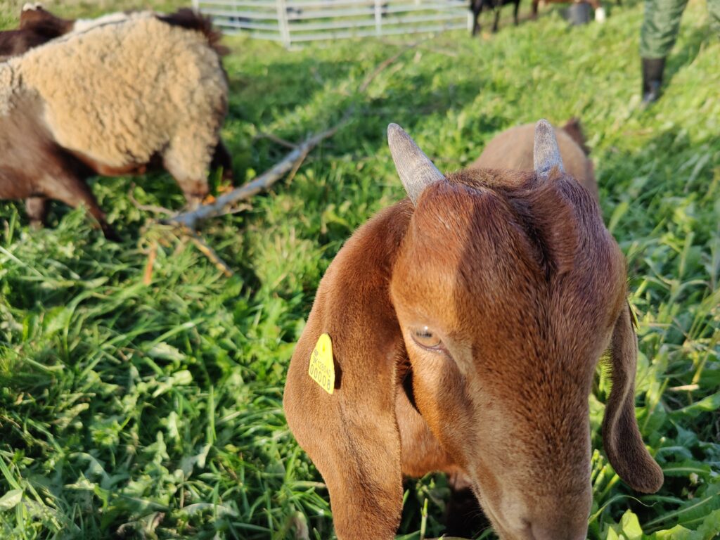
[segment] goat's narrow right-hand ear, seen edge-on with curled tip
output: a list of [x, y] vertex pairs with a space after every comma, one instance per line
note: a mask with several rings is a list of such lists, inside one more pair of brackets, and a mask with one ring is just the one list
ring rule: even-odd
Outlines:
[[613, 469], [630, 487], [654, 493], [662, 487], [662, 469], [645, 449], [635, 419], [637, 337], [630, 306], [615, 323], [610, 345], [612, 389], [603, 418], [603, 445]]

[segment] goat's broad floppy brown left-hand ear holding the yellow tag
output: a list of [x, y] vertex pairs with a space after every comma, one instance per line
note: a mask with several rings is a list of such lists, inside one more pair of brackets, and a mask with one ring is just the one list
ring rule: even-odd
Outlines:
[[[330, 491], [338, 538], [393, 539], [402, 510], [396, 359], [404, 345], [388, 292], [412, 207], [395, 204], [361, 227], [330, 264], [292, 356], [287, 423]], [[308, 374], [321, 334], [333, 347], [335, 390]]]

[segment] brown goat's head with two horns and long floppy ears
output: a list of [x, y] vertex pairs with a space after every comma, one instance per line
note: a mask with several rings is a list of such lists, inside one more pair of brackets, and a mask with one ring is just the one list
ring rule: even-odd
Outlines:
[[[635, 490], [663, 481], [634, 415], [624, 257], [543, 120], [531, 172], [444, 176], [397, 125], [388, 140], [409, 199], [328, 268], [284, 395], [338, 538], [394, 538], [402, 475], [444, 471], [464, 475], [503, 540], [585, 539], [588, 397], [603, 351], [608, 459]], [[332, 394], [308, 374], [323, 333]]]

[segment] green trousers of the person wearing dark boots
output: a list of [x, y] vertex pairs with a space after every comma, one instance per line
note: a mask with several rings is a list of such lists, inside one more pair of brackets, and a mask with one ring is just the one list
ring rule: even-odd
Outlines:
[[[640, 30], [640, 56], [665, 58], [675, 45], [688, 0], [645, 0], [645, 19]], [[720, 31], [720, 0], [708, 0], [710, 24]]]

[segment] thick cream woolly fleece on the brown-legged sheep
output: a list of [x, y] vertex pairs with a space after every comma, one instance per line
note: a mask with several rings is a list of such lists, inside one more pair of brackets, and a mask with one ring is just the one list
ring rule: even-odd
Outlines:
[[64, 148], [117, 167], [161, 155], [204, 181], [227, 109], [220, 58], [201, 32], [137, 15], [0, 63], [0, 115], [37, 93]]

